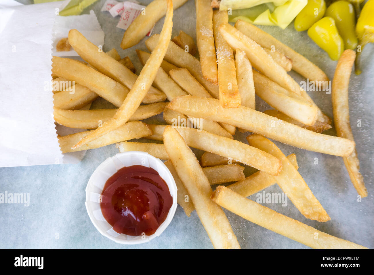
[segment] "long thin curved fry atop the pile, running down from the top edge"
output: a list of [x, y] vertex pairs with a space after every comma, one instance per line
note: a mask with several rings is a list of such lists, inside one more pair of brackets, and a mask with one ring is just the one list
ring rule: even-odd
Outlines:
[[82, 145], [93, 141], [96, 138], [106, 134], [107, 132], [113, 131], [114, 129], [125, 124], [138, 109], [141, 101], [151, 87], [157, 70], [162, 62], [163, 56], [168, 49], [173, 26], [173, 4], [171, 0], [167, 0], [167, 10], [168, 11], [166, 12], [164, 25], [162, 27], [160, 39], [157, 42], [157, 46], [152, 52], [150, 58], [145, 63], [139, 77], [134, 83], [134, 86], [132, 86], [131, 91], [123, 101], [121, 107], [118, 109], [113, 119], [103, 123], [102, 127], [91, 131], [89, 135], [86, 135], [76, 145], [74, 145], [73, 149], [77, 149]]

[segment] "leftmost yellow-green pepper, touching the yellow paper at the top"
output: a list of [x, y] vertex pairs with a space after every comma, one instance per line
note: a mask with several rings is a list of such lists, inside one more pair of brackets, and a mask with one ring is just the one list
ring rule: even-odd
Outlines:
[[306, 6], [295, 18], [295, 30], [306, 31], [315, 22], [324, 17], [325, 10], [325, 0], [308, 0]]

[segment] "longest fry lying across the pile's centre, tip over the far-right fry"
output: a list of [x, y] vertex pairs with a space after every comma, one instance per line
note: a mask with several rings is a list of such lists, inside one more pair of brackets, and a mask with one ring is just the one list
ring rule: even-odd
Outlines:
[[247, 131], [309, 151], [334, 156], [349, 156], [355, 147], [354, 141], [315, 133], [247, 107], [222, 108], [220, 102], [213, 98], [185, 95], [174, 98], [168, 108], [193, 117], [230, 123]]

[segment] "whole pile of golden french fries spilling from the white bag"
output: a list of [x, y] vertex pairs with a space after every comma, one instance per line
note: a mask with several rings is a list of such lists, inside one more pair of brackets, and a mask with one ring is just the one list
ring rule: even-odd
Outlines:
[[[145, 41], [151, 53], [136, 50], [144, 66], [139, 76], [129, 58], [121, 59], [115, 49], [102, 52], [70, 30], [68, 41], [85, 62], [53, 57], [53, 81], [75, 82], [74, 94], [54, 91], [54, 117], [64, 126], [92, 131], [58, 137], [62, 152], [117, 143], [120, 152], [144, 151], [165, 160], [178, 204], [187, 216], [196, 210], [215, 248], [240, 248], [221, 207], [312, 248], [365, 248], [246, 198], [278, 184], [307, 219], [330, 220], [298, 172], [295, 154], [285, 156], [268, 138], [343, 157], [359, 195], [367, 196], [349, 126], [355, 53], [343, 53], [333, 79], [338, 137], [325, 135], [331, 119], [287, 73], [293, 69], [310, 80], [327, 80], [320, 68], [248, 22], [228, 24], [227, 12], [212, 10], [210, 0], [195, 0], [197, 47], [183, 31], [171, 40], [173, 4], [185, 2], [154, 0], [126, 30], [123, 49], [139, 43], [166, 15], [161, 33]], [[255, 110], [256, 94], [274, 109]], [[118, 109], [89, 110], [98, 97]], [[162, 112], [163, 125], [141, 122]], [[236, 128], [253, 133], [248, 144], [234, 139]], [[150, 142], [129, 141], [144, 137]], [[205, 151], [200, 162], [190, 147]], [[244, 165], [258, 171], [245, 177]], [[234, 183], [212, 191], [211, 185], [228, 182]]]

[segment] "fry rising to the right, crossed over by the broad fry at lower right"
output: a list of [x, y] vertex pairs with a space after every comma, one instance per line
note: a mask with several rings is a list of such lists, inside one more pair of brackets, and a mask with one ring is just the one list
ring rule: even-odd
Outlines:
[[[288, 155], [287, 158], [296, 169], [299, 168], [295, 154]], [[227, 188], [230, 188], [241, 196], [249, 197], [274, 184], [276, 184], [276, 180], [273, 176], [262, 171], [257, 171], [244, 180], [228, 185]]]

